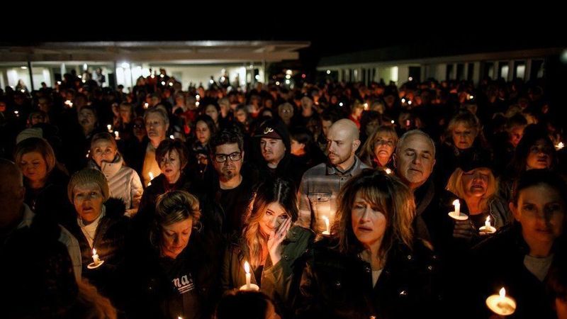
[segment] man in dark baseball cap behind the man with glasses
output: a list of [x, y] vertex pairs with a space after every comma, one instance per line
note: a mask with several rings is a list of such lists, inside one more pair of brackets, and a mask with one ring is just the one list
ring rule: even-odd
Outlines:
[[259, 167], [259, 177], [283, 177], [299, 186], [305, 167], [291, 156], [291, 141], [286, 126], [279, 120], [269, 119], [258, 128], [255, 138], [264, 162]]

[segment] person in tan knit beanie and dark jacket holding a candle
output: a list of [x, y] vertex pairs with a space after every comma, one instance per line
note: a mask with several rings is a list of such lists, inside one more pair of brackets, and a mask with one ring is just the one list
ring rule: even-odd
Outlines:
[[[120, 199], [108, 198], [106, 177], [96, 169], [82, 169], [73, 174], [67, 195], [77, 218], [64, 226], [79, 240], [83, 277], [119, 307], [118, 271], [123, 264], [128, 226], [128, 218], [124, 216], [125, 205]], [[104, 263], [96, 269], [89, 269], [95, 249]]]

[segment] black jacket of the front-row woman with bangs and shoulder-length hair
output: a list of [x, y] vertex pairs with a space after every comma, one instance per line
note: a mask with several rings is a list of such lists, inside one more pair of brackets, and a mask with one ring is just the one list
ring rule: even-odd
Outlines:
[[368, 262], [342, 254], [322, 240], [301, 277], [297, 318], [442, 318], [437, 263], [432, 250], [415, 240], [413, 250], [396, 243], [372, 286]]

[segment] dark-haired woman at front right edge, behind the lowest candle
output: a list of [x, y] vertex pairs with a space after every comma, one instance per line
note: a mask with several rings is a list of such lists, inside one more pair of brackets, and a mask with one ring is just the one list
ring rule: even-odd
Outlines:
[[461, 318], [489, 318], [485, 299], [501, 288], [517, 303], [509, 318], [556, 318], [546, 281], [549, 269], [566, 260], [566, 198], [567, 185], [557, 174], [547, 169], [522, 174], [510, 202], [515, 223], [473, 248], [471, 283], [456, 292], [470, 301]]

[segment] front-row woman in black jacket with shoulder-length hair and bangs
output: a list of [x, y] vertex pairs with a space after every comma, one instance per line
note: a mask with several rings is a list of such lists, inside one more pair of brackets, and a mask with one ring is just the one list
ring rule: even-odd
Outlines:
[[366, 169], [350, 179], [331, 240], [318, 242], [303, 270], [298, 318], [439, 318], [437, 265], [413, 237], [414, 216], [398, 178]]

